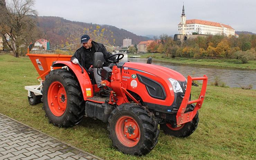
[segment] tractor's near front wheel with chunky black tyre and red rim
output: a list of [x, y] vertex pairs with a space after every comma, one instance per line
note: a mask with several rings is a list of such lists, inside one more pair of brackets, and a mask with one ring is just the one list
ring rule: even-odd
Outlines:
[[111, 112], [108, 122], [113, 146], [125, 154], [147, 154], [158, 141], [158, 123], [143, 106], [122, 104]]

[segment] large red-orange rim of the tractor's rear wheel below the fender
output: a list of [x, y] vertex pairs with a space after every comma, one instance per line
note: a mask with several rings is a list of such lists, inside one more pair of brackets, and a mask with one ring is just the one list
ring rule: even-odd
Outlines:
[[62, 116], [67, 107], [67, 94], [60, 82], [53, 82], [48, 89], [48, 105], [55, 116]]

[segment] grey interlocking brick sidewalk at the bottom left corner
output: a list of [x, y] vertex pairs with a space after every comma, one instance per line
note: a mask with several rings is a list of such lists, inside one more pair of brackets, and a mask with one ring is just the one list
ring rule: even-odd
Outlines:
[[0, 160], [102, 160], [0, 114]]

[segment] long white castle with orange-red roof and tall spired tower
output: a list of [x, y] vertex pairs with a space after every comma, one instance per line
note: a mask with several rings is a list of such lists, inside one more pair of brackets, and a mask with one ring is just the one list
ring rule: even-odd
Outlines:
[[193, 32], [202, 35], [235, 35], [235, 29], [229, 25], [199, 19], [186, 20], [183, 4], [178, 33], [182, 35], [192, 35]]

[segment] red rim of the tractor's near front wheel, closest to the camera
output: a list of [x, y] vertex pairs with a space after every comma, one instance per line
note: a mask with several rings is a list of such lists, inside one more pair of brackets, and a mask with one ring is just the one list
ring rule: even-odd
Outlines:
[[120, 117], [115, 128], [118, 140], [126, 147], [134, 147], [139, 142], [139, 125], [132, 117]]

